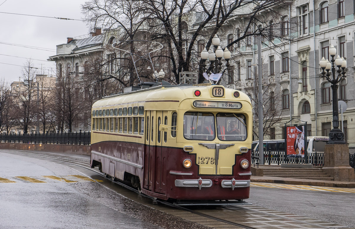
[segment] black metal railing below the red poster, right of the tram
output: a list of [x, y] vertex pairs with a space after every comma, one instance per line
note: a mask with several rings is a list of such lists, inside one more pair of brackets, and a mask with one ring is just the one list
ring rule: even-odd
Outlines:
[[[251, 151], [251, 155], [254, 157], [259, 157], [259, 151]], [[253, 159], [252, 159], [253, 163]], [[304, 164], [306, 163], [306, 158], [304, 157], [287, 157], [284, 151], [266, 151], [264, 152], [264, 164]], [[324, 165], [324, 153], [308, 153], [308, 163], [313, 164], [313, 166], [323, 166]]]

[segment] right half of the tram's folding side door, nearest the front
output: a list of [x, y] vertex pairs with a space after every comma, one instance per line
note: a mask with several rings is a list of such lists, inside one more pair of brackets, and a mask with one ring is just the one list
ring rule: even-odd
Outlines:
[[166, 170], [168, 169], [168, 155], [166, 150], [163, 149], [164, 132], [159, 131], [159, 125], [164, 124], [164, 117], [167, 116], [167, 111], [157, 111], [156, 113], [156, 128], [155, 132], [155, 185], [154, 191], [166, 194]]

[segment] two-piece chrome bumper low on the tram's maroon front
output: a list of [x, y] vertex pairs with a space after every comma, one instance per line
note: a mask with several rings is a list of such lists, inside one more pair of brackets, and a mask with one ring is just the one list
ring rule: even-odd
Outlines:
[[[175, 180], [176, 187], [192, 187], [192, 188], [209, 188], [212, 186], [212, 180], [210, 179], [188, 179], [188, 180]], [[250, 180], [222, 180], [222, 188], [245, 188], [250, 187]]]

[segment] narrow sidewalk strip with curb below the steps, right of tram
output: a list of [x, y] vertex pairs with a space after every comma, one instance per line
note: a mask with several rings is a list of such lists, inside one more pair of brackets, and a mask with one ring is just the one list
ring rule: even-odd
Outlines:
[[324, 187], [337, 187], [337, 188], [355, 188], [355, 182], [335, 181], [335, 180], [307, 180], [285, 177], [258, 177], [251, 176], [251, 182], [264, 182], [276, 184], [295, 184], [295, 185], [311, 185], [311, 186], [324, 186]]

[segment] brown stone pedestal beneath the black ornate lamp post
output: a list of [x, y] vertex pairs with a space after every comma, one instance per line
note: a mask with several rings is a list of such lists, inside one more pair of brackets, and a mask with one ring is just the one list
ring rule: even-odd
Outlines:
[[349, 165], [348, 144], [327, 144], [324, 147], [323, 171], [334, 180], [355, 182], [355, 170]]

